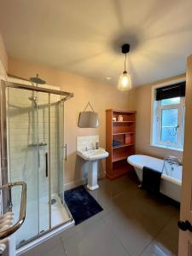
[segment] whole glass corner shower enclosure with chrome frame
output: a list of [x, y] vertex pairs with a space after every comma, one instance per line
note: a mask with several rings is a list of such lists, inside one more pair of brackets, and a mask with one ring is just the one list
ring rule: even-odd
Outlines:
[[[27, 184], [26, 220], [16, 232], [20, 248], [73, 222], [64, 201], [64, 102], [73, 94], [4, 81], [0, 90], [3, 183]], [[17, 219], [20, 191], [5, 197], [3, 211], [12, 209]]]

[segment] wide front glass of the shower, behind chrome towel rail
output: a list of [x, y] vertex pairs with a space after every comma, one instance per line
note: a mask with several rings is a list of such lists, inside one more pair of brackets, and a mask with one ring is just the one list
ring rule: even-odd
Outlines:
[[[16, 245], [50, 228], [49, 94], [7, 88], [9, 181], [27, 185], [26, 220], [16, 233]], [[19, 218], [20, 191], [12, 196]]]

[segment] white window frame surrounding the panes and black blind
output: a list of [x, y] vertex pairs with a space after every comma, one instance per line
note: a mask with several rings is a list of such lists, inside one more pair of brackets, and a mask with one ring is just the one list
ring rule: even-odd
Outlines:
[[[185, 82], [185, 79], [175, 79], [167, 83], [157, 84], [152, 87], [152, 101], [151, 101], [151, 137], [150, 145], [160, 148], [168, 148], [174, 150], [183, 150], [183, 132], [184, 132], [184, 97], [180, 97], [179, 104], [170, 104], [161, 106], [161, 101], [156, 101], [155, 92], [157, 88], [165, 87], [166, 85], [177, 84]], [[161, 141], [161, 113], [163, 109], [178, 109], [178, 125], [177, 128], [177, 143], [169, 143]]]

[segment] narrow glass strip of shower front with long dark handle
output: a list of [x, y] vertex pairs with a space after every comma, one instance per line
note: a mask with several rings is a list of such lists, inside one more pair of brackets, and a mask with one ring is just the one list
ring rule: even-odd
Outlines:
[[49, 95], [38, 92], [39, 233], [49, 230]]

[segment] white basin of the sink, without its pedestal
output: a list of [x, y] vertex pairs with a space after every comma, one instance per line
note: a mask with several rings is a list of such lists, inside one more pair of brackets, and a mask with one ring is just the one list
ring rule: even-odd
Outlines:
[[103, 148], [99, 149], [90, 149], [90, 150], [78, 150], [77, 154], [82, 157], [84, 160], [99, 160], [102, 158], [108, 157], [108, 152]]

